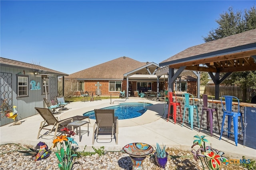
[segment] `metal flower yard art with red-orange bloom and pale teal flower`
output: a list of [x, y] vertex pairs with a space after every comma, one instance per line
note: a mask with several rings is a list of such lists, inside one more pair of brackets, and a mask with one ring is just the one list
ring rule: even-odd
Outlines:
[[[224, 152], [218, 151], [217, 149], [212, 148], [211, 146], [206, 146], [205, 143], [209, 143], [209, 141], [205, 138], [206, 136], [199, 136], [196, 135], [194, 138], [196, 138], [193, 142], [193, 145], [191, 146], [192, 148], [192, 153], [194, 154], [194, 160], [200, 160], [203, 169], [205, 169], [204, 163], [206, 164], [207, 168], [209, 170], [218, 170], [220, 168], [220, 164], [223, 161], [228, 160], [227, 158], [223, 157], [222, 155]], [[194, 149], [194, 146], [199, 145], [200, 148], [198, 150]]]

